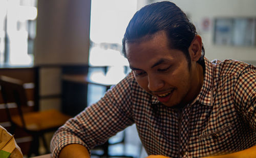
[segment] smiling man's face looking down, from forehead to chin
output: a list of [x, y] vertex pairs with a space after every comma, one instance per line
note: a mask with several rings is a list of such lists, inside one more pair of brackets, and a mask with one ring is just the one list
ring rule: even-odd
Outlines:
[[[126, 43], [126, 55], [138, 84], [165, 106], [188, 103], [194, 98], [195, 64], [188, 67], [185, 55], [168, 47], [164, 32], [148, 40]], [[195, 85], [196, 86], [196, 85]]]

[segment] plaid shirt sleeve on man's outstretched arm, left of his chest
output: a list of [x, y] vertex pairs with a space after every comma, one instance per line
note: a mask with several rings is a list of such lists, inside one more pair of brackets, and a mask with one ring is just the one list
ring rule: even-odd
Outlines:
[[90, 152], [94, 146], [103, 144], [118, 131], [134, 123], [132, 110], [129, 109], [131, 75], [55, 132], [51, 141], [54, 157], [58, 157], [60, 150], [69, 144], [81, 144]]

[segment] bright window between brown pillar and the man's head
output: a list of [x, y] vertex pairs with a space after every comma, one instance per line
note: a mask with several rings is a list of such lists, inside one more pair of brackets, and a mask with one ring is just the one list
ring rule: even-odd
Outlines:
[[[92, 0], [89, 76], [94, 82], [116, 84], [129, 72], [129, 63], [122, 55], [122, 38], [136, 10], [137, 0]], [[106, 71], [99, 66], [106, 66]], [[89, 84], [88, 92], [91, 105], [103, 96], [105, 87]]]

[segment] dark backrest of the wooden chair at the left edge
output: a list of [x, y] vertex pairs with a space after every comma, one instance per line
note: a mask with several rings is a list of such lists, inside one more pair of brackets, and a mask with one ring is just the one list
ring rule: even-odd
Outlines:
[[24, 84], [21, 80], [7, 76], [0, 76], [1, 92], [5, 103], [5, 107], [7, 108], [7, 112], [9, 113], [8, 115], [10, 121], [12, 120], [8, 103], [14, 102], [17, 105], [18, 113], [20, 115], [20, 119], [22, 120], [23, 126], [26, 127], [23, 118], [22, 106], [28, 106], [28, 101], [26, 91], [23, 85]]

